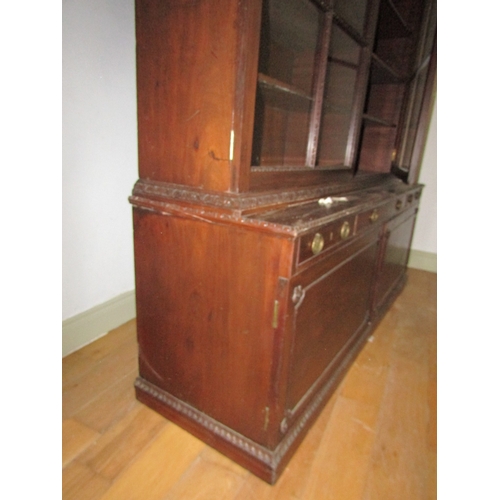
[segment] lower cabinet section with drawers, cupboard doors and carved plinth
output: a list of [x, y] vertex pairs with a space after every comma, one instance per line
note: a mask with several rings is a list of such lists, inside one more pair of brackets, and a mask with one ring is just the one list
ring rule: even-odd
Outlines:
[[249, 216], [131, 199], [138, 399], [274, 483], [403, 281], [409, 189]]

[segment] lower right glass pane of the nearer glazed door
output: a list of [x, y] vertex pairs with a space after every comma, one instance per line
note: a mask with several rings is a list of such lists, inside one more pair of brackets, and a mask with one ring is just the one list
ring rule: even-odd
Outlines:
[[354, 68], [328, 64], [318, 143], [319, 166], [343, 167], [345, 164], [356, 77]]

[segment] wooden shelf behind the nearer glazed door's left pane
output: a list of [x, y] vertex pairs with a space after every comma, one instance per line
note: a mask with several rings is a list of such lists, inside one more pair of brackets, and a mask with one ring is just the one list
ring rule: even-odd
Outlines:
[[288, 111], [309, 111], [313, 98], [303, 90], [259, 73], [258, 86], [266, 103]]

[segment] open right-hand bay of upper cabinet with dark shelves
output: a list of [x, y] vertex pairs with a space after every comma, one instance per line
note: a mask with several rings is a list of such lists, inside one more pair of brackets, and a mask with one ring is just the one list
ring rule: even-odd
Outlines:
[[380, 2], [358, 170], [392, 171], [406, 179], [410, 166], [418, 163], [412, 158], [419, 157], [428, 126], [424, 115], [435, 73], [435, 33], [434, 0]]

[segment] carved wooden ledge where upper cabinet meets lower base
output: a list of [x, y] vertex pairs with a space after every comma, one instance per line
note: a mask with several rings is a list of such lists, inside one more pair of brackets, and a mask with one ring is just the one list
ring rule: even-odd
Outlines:
[[130, 203], [159, 213], [243, 224], [297, 236], [338, 218], [377, 208], [406, 193], [421, 191], [423, 186], [389, 178], [376, 185], [350, 187], [346, 190], [344, 186], [342, 191], [338, 186], [323, 186], [285, 193], [235, 195], [140, 180]]

